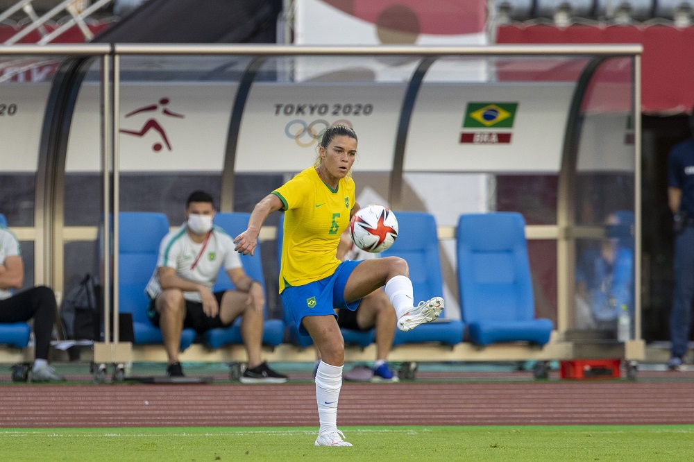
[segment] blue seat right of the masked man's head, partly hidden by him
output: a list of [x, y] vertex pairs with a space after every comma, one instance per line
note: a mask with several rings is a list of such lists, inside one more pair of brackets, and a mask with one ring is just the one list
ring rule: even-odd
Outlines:
[[[214, 216], [214, 224], [234, 238], [246, 230], [250, 216], [251, 214], [243, 212], [220, 212]], [[241, 255], [241, 262], [248, 277], [260, 281], [263, 290], [265, 290], [265, 278], [262, 273], [262, 258], [260, 255], [260, 242], [258, 242], [253, 256]], [[213, 290], [223, 291], [228, 289], [234, 289], [234, 284], [229, 280], [229, 276], [224, 268], [221, 268]], [[262, 342], [264, 345], [278, 346], [282, 343], [284, 337], [285, 323], [280, 319], [267, 319], [267, 306], [264, 308], [265, 322], [263, 325]], [[242, 318], [239, 316], [229, 327], [208, 330], [208, 332], [203, 334], [203, 343], [210, 348], [244, 343], [241, 337], [241, 321]]]

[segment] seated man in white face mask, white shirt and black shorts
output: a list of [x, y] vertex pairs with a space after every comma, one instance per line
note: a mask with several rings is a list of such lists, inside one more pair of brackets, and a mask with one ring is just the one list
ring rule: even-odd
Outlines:
[[[202, 334], [214, 327], [226, 327], [242, 316], [248, 367], [241, 382], [287, 382], [285, 375], [276, 373], [262, 360], [265, 294], [260, 282], [244, 272], [233, 237], [212, 225], [212, 196], [194, 191], [186, 202], [185, 216], [186, 223], [162, 239], [157, 268], [146, 287], [151, 299], [147, 314], [164, 337], [169, 358], [167, 375], [183, 377], [178, 352], [184, 327]], [[221, 266], [236, 289], [212, 293]]]

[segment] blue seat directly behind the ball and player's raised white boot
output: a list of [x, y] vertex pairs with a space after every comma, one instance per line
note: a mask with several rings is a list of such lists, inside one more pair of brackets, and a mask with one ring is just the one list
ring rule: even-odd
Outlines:
[[[414, 303], [443, 297], [443, 276], [439, 257], [439, 236], [436, 219], [426, 212], [395, 212], [398, 218], [398, 239], [381, 253], [383, 257], [401, 257], [409, 266], [409, 279], [414, 289]], [[396, 330], [393, 345], [437, 342], [457, 345], [463, 341], [464, 324], [448, 319], [450, 307], [443, 309], [440, 320], [418, 325], [408, 332]]]

